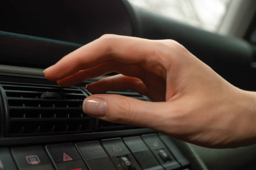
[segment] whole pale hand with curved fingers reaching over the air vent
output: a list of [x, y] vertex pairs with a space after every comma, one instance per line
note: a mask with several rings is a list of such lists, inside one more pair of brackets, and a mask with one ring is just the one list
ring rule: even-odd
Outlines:
[[[256, 93], [241, 90], [174, 40], [103, 35], [44, 70], [63, 87], [109, 72], [87, 85], [86, 114], [151, 128], [210, 148], [256, 142]], [[153, 102], [107, 91], [133, 90]], [[95, 94], [97, 93], [97, 94]]]

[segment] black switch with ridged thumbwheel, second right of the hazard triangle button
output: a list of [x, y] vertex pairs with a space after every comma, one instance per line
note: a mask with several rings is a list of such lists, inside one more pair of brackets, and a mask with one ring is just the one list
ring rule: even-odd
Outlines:
[[121, 138], [102, 140], [102, 146], [108, 152], [118, 170], [141, 170]]

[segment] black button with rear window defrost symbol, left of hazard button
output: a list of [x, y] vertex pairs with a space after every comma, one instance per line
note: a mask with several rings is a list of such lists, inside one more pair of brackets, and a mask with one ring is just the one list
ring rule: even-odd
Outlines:
[[12, 148], [11, 152], [20, 170], [53, 170], [42, 146]]

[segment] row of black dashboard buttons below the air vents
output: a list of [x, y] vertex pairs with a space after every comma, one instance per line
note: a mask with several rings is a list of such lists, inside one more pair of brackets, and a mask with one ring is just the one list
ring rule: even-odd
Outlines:
[[189, 168], [187, 158], [181, 152], [176, 152], [177, 146], [174, 143], [170, 145], [169, 140], [171, 138], [165, 135], [152, 133], [98, 141], [0, 148], [0, 170], [184, 170]]

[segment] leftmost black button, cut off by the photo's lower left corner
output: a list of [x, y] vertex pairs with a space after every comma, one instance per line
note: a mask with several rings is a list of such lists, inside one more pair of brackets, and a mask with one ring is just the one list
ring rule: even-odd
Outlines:
[[0, 148], [0, 170], [17, 170], [8, 148]]

